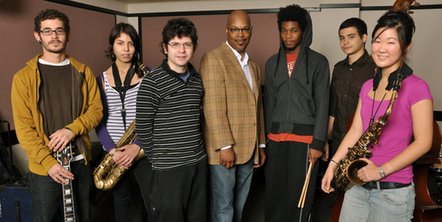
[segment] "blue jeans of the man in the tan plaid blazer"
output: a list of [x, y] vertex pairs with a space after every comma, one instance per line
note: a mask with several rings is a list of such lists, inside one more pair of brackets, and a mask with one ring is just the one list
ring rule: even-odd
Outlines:
[[210, 215], [212, 222], [241, 222], [253, 176], [253, 158], [230, 169], [210, 165]]

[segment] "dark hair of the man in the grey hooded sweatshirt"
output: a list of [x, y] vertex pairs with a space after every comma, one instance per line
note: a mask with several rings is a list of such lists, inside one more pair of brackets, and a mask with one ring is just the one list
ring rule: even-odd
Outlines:
[[279, 12], [276, 15], [278, 17], [278, 28], [281, 31], [282, 22], [298, 22], [301, 31], [304, 32], [307, 27], [307, 10], [301, 8], [297, 4], [288, 5], [286, 7], [279, 8]]

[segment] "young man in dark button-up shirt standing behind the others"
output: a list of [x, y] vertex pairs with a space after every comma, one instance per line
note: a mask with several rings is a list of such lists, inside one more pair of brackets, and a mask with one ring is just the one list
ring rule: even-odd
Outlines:
[[356, 111], [359, 91], [373, 78], [376, 64], [365, 50], [367, 25], [359, 18], [349, 18], [339, 27], [339, 41], [347, 58], [336, 63], [330, 90], [330, 116], [327, 135], [332, 133], [332, 148], [325, 143], [323, 160], [333, 156], [347, 132], [347, 124]]

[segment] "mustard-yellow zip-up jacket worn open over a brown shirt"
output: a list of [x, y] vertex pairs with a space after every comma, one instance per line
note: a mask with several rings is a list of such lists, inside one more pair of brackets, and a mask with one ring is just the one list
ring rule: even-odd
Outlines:
[[[52, 150], [48, 147], [49, 138], [45, 135], [43, 116], [39, 110], [39, 88], [41, 84], [40, 71], [38, 69], [37, 55], [26, 63], [26, 67], [14, 75], [12, 81], [12, 111], [14, 116], [15, 130], [21, 147], [26, 151], [29, 160], [29, 170], [38, 175], [48, 175], [49, 169], [57, 160], [53, 157]], [[100, 92], [97, 87], [95, 76], [86, 65], [72, 57], [66, 56], [73, 67], [75, 75], [78, 75], [80, 90], [77, 118], [65, 126], [70, 129], [74, 136], [79, 136], [84, 149], [83, 157], [91, 160], [90, 149], [92, 147], [88, 133], [95, 128], [103, 116]]]

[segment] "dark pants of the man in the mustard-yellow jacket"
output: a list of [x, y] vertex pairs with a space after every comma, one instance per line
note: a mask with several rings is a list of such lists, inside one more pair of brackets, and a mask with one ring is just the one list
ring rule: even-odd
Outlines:
[[[84, 165], [84, 160], [71, 163], [74, 174], [73, 193], [76, 221], [90, 220], [90, 193], [92, 188], [92, 167]], [[34, 222], [58, 221], [62, 209], [62, 185], [50, 176], [29, 173], [29, 190]]]

